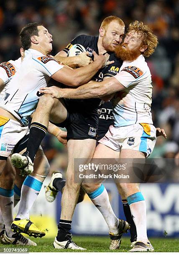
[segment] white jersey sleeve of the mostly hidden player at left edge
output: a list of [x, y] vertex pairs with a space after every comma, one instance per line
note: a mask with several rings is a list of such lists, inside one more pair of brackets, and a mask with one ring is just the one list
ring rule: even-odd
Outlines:
[[4, 81], [8, 81], [10, 77], [12, 77], [16, 72], [16, 69], [12, 63], [8, 62], [2, 62], [0, 64], [0, 78]]

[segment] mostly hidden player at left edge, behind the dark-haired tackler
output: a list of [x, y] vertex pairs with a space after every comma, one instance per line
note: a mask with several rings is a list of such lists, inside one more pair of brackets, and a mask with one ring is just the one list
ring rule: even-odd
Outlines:
[[[0, 100], [4, 97], [8, 82], [18, 71], [22, 63], [23, 53], [23, 48], [20, 48], [20, 58], [15, 61], [10, 60], [0, 64]], [[16, 172], [18, 172], [18, 170], [16, 170]], [[36, 246], [36, 243], [30, 239], [23, 237], [21, 234], [14, 233], [11, 230], [13, 208], [20, 200], [20, 188], [24, 179], [25, 178], [22, 179], [17, 175], [14, 184], [15, 170], [8, 157], [5, 171], [0, 176], [0, 200], [3, 201], [3, 208], [0, 209], [0, 242]], [[4, 212], [4, 219], [1, 210]]]

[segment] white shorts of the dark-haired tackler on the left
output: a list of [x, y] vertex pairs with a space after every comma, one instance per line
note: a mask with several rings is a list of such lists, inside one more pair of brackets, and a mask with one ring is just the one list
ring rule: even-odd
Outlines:
[[10, 156], [15, 145], [28, 132], [28, 126], [0, 115], [0, 156]]

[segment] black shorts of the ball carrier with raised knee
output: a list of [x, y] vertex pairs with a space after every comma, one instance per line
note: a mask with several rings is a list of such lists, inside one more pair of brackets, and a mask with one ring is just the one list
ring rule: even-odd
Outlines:
[[90, 106], [75, 100], [64, 100], [64, 104], [67, 110], [67, 118], [62, 123], [54, 124], [66, 128], [67, 141], [69, 139], [84, 140], [87, 138], [97, 140], [99, 121], [97, 108], [91, 109]]

